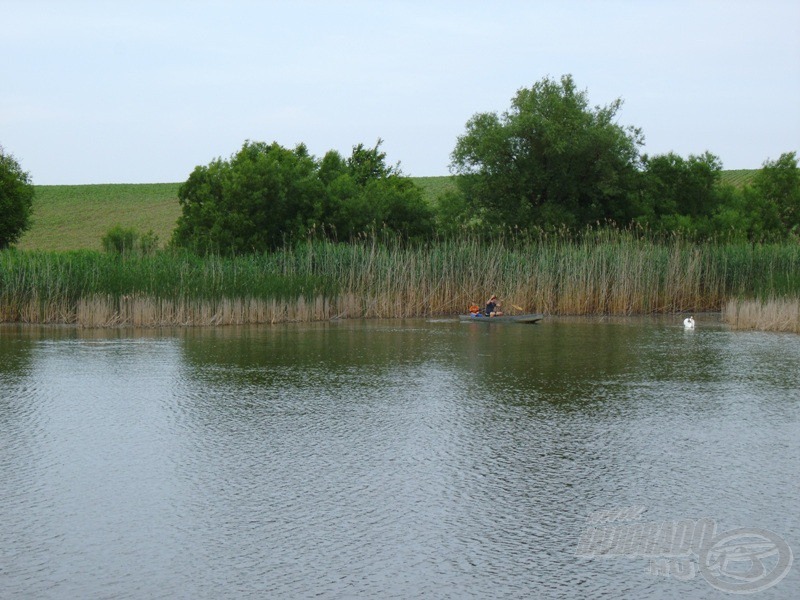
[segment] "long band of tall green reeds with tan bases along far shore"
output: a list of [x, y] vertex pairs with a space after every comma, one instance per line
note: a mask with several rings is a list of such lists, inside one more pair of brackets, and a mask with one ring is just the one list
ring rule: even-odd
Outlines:
[[731, 297], [800, 297], [800, 247], [600, 230], [579, 240], [309, 240], [238, 258], [0, 252], [0, 321], [96, 327], [419, 317], [463, 313], [491, 293], [507, 312], [719, 311]]

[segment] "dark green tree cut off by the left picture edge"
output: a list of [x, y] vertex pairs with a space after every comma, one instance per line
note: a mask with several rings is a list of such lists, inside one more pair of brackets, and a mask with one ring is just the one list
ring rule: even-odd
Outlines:
[[33, 195], [30, 175], [0, 146], [0, 249], [14, 244], [30, 226]]

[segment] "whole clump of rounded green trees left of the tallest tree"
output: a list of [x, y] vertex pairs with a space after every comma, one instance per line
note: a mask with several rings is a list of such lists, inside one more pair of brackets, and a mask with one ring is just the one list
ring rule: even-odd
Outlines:
[[199, 166], [178, 191], [182, 215], [173, 241], [200, 253], [243, 254], [295, 243], [311, 231], [351, 239], [386, 228], [428, 235], [433, 215], [421, 190], [387, 166], [381, 141], [348, 159], [317, 161], [302, 144], [246, 142], [229, 161]]

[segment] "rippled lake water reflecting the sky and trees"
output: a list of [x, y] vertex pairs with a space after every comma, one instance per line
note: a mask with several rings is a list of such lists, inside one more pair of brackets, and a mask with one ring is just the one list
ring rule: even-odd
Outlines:
[[799, 367], [717, 316], [2, 326], [0, 598], [796, 597]]

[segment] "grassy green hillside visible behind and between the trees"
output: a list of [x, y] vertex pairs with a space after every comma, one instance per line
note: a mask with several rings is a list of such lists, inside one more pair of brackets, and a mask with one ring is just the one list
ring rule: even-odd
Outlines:
[[[741, 186], [754, 170], [723, 171], [723, 183]], [[428, 201], [454, 187], [452, 177], [413, 177]], [[33, 224], [17, 247], [24, 250], [99, 249], [114, 225], [152, 230], [162, 244], [180, 216], [180, 183], [35, 186]]]

